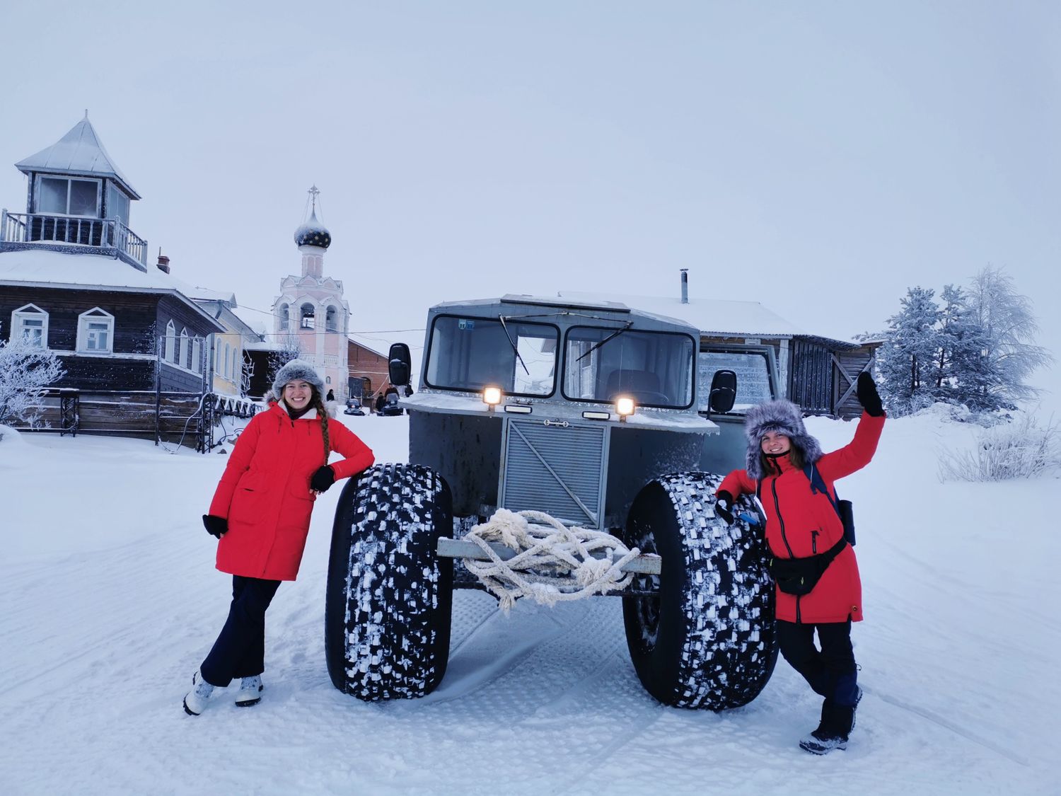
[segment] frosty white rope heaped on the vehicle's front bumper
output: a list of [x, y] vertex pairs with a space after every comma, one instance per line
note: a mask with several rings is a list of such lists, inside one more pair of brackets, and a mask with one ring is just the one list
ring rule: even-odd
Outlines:
[[[632, 572], [621, 567], [640, 551], [628, 550], [611, 534], [568, 527], [544, 512], [510, 512], [499, 508], [489, 520], [475, 525], [465, 537], [486, 553], [490, 560], [465, 559], [465, 566], [508, 611], [517, 598], [527, 596], [542, 605], [580, 600], [626, 587]], [[490, 542], [501, 542], [519, 551], [503, 560]], [[606, 551], [604, 558], [594, 551]], [[615, 556], [619, 556], [618, 558]]]

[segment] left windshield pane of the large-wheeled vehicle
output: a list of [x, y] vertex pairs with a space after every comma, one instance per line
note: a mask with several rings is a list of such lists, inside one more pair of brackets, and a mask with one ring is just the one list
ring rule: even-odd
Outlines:
[[439, 315], [431, 327], [424, 381], [445, 390], [546, 396], [556, 390], [559, 329], [500, 318]]

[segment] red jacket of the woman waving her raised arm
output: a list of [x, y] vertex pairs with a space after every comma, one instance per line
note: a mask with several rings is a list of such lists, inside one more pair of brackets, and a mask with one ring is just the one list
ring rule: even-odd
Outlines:
[[[863, 413], [854, 438], [842, 448], [825, 453], [818, 460], [818, 472], [832, 495], [834, 482], [860, 470], [873, 457], [884, 429], [882, 417]], [[829, 498], [811, 492], [811, 481], [797, 469], [788, 456], [776, 460], [781, 473], [763, 479], [760, 494], [766, 509], [766, 541], [773, 555], [804, 558], [824, 553], [843, 536], [843, 525]], [[733, 470], [718, 487], [734, 498], [742, 492], [755, 494], [755, 482], [746, 470]], [[787, 542], [787, 544], [786, 544]], [[789, 548], [792, 553], [789, 553]], [[777, 618], [785, 622], [819, 624], [853, 622], [863, 619], [862, 581], [855, 551], [849, 544], [829, 565], [810, 594], [796, 596], [777, 589]]]

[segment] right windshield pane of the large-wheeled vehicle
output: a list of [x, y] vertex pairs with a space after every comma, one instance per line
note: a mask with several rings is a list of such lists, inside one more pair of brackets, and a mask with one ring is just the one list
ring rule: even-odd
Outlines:
[[693, 403], [693, 351], [688, 334], [573, 327], [564, 344], [563, 395], [607, 403], [626, 395], [642, 406], [685, 409]]

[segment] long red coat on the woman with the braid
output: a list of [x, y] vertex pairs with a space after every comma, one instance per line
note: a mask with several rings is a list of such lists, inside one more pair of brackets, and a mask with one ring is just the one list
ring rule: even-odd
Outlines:
[[[370, 467], [376, 457], [341, 422], [328, 423], [335, 480]], [[320, 418], [311, 411], [297, 420], [274, 403], [247, 423], [210, 503], [210, 514], [228, 519], [218, 542], [218, 569], [233, 575], [294, 581], [302, 561], [316, 496], [310, 479], [324, 463]]]

